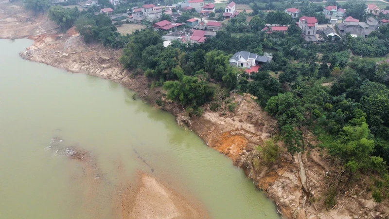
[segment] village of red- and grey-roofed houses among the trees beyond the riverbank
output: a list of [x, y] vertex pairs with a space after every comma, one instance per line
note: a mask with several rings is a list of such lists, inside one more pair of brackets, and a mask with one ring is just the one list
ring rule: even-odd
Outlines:
[[[112, 5], [120, 4], [118, 0], [109, 0]], [[88, 0], [79, 3], [83, 7], [97, 4]], [[168, 47], [174, 40], [181, 43], [203, 43], [207, 38], [216, 36], [220, 30], [225, 30], [230, 19], [239, 17], [240, 13], [248, 15], [248, 5], [239, 5], [234, 1], [224, 3], [225, 7], [216, 8], [220, 3], [206, 3], [204, 0], [184, 0], [172, 5], [145, 4], [127, 9], [126, 13], [115, 13], [112, 8], [103, 8], [95, 14], [106, 14], [121, 32], [122, 25], [134, 27], [122, 34], [131, 34], [135, 29], [152, 27], [163, 34], [163, 45]], [[388, 4], [389, 5], [389, 4]], [[245, 8], [242, 10], [242, 8]], [[252, 10], [251, 10], [252, 11]], [[389, 10], [380, 9], [375, 4], [367, 4], [367, 18], [359, 20], [348, 16], [346, 9], [336, 5], [323, 6], [322, 15], [326, 23], [319, 24], [315, 17], [300, 15], [299, 8], [287, 8], [283, 11], [296, 20], [295, 24], [301, 29], [302, 37], [307, 43], [336, 41], [350, 34], [352, 37], [367, 37], [378, 30], [381, 25], [389, 23], [388, 19], [378, 19], [378, 16], [388, 15]], [[189, 16], [188, 16], [189, 15]], [[167, 16], [167, 17], [166, 17]], [[168, 18], [168, 19], [164, 19]], [[266, 23], [261, 30], [265, 34], [274, 32], [285, 33], [291, 24]], [[247, 73], [257, 72], [261, 64], [272, 61], [272, 54], [257, 55], [248, 51], [240, 51], [230, 57], [230, 65], [245, 68]]]

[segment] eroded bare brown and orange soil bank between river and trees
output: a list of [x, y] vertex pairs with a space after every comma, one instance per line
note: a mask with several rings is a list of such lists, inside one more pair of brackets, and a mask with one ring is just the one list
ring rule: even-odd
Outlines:
[[[11, 15], [11, 18], [13, 17], [15, 15]], [[0, 28], [7, 26], [4, 22], [4, 19], [0, 21]], [[0, 29], [0, 37], [7, 38], [9, 34]], [[34, 39], [35, 43], [20, 54], [25, 59], [72, 73], [87, 73], [116, 81], [136, 91], [152, 105], [156, 105], [155, 100], [163, 92], [158, 88], [150, 90], [147, 78], [143, 75], [132, 76], [124, 70], [118, 62], [121, 50], [112, 50], [98, 44], [85, 44], [74, 29], [70, 29], [66, 34], [33, 34], [30, 38]], [[367, 191], [367, 184], [364, 183], [350, 188], [338, 197], [338, 204], [333, 209], [326, 210], [323, 204], [326, 182], [334, 178], [332, 173], [336, 173], [338, 167], [329, 163], [325, 153], [318, 149], [307, 148], [300, 155], [291, 156], [280, 142], [283, 150], [280, 162], [271, 167], [261, 164], [261, 161], [255, 158], [256, 146], [262, 145], [277, 132], [277, 122], [263, 111], [249, 94], [231, 94], [230, 99], [237, 103], [234, 112], [213, 112], [209, 110], [209, 106], [205, 106], [202, 116], [188, 118], [181, 106], [169, 101], [165, 101], [163, 110], [176, 115], [177, 121], [186, 123], [207, 146], [220, 151], [235, 165], [242, 167], [248, 178], [275, 201], [277, 209], [285, 218], [389, 217], [388, 202], [375, 203], [371, 193]], [[309, 132], [307, 134], [309, 135]], [[310, 143], [315, 145], [314, 140]]]

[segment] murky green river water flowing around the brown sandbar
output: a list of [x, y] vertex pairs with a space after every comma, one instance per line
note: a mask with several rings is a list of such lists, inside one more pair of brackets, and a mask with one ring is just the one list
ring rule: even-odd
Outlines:
[[[96, 218], [94, 208], [112, 218], [107, 194], [139, 170], [191, 194], [212, 218], [279, 218], [241, 169], [171, 114], [117, 83], [23, 60], [32, 43], [0, 39], [1, 219]], [[48, 150], [53, 137], [88, 151], [106, 183], [83, 183], [88, 168]]]

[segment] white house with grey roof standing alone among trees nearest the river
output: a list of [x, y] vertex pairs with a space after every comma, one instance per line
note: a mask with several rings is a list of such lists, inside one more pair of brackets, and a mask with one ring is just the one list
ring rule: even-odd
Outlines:
[[257, 66], [261, 63], [266, 63], [270, 61], [271, 57], [257, 55], [247, 51], [240, 51], [232, 55], [232, 57], [230, 58], [230, 65], [241, 68], [251, 68], [252, 66]]

